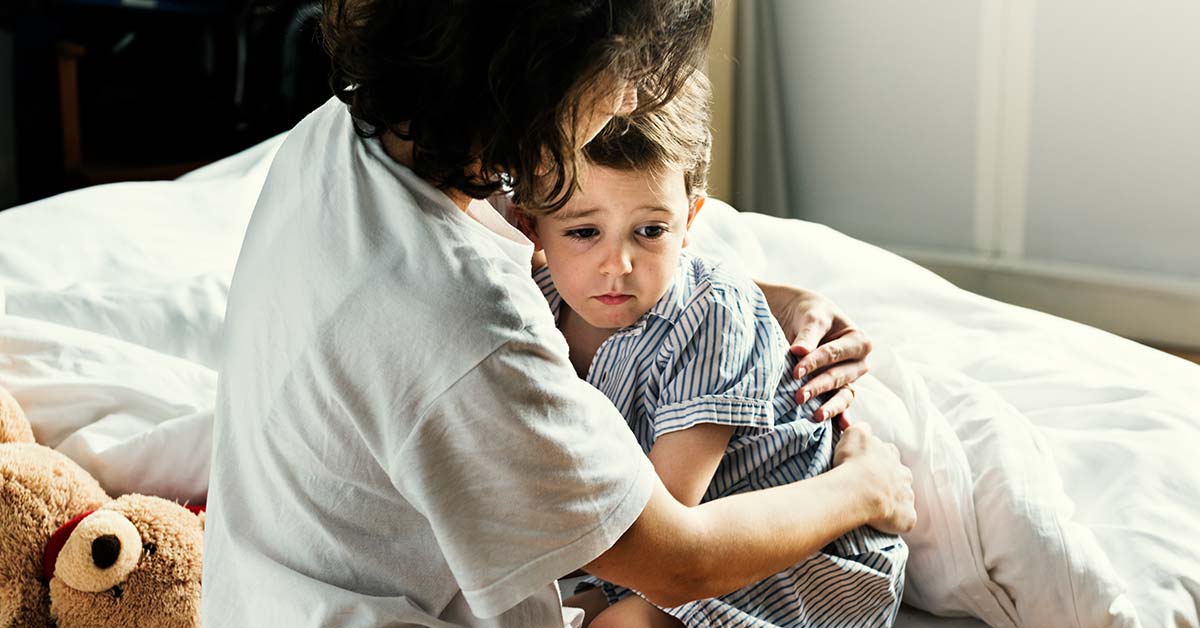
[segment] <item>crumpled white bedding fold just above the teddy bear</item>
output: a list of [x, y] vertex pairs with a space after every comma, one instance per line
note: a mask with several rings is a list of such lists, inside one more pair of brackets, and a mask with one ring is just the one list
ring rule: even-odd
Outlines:
[[0, 316], [0, 387], [110, 495], [200, 501], [216, 372], [90, 331]]

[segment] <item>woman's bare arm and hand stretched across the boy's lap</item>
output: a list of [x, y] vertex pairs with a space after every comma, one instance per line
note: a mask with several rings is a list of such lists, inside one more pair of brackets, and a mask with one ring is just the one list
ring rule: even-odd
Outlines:
[[625, 534], [584, 570], [676, 606], [757, 582], [862, 525], [907, 532], [912, 473], [869, 426], [846, 430], [827, 473], [697, 507], [661, 484]]

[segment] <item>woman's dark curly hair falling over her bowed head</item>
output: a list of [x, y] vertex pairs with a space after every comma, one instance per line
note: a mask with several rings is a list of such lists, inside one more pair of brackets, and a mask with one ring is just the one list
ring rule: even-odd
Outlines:
[[330, 83], [360, 136], [412, 140], [414, 171], [440, 189], [511, 187], [538, 213], [577, 187], [588, 96], [628, 79], [632, 115], [656, 108], [713, 26], [713, 0], [324, 1]]

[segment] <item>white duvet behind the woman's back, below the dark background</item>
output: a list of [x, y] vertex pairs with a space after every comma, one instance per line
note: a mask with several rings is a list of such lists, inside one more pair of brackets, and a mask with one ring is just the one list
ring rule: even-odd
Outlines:
[[98, 185], [4, 211], [0, 311], [215, 366], [234, 263], [281, 139], [180, 181]]

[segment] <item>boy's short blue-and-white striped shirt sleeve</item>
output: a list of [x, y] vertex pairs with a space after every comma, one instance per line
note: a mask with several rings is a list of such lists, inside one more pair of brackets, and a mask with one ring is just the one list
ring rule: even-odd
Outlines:
[[787, 349], [757, 289], [701, 291], [662, 351], [655, 438], [701, 423], [732, 425], [736, 435], [774, 426]]

